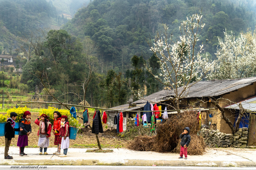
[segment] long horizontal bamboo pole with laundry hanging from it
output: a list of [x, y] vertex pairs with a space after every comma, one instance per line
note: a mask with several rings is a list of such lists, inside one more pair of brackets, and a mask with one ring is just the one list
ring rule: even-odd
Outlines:
[[[76, 106], [76, 107], [84, 107], [84, 108], [91, 108], [91, 109], [97, 109], [97, 110], [106, 110], [106, 111], [117, 111], [117, 112], [171, 112], [171, 111], [182, 111], [182, 110], [199, 110], [199, 109], [178, 109], [178, 110], [160, 110], [160, 111], [143, 111], [143, 110], [116, 110], [116, 109], [106, 109], [106, 108], [99, 108], [99, 107], [91, 107], [91, 106], [83, 106], [83, 105], [73, 105], [73, 104], [66, 104], [66, 103], [54, 103], [54, 102], [21, 102], [24, 103], [42, 103], [42, 104], [55, 104], [55, 105], [67, 105], [67, 106]], [[215, 109], [215, 108], [209, 108]]]

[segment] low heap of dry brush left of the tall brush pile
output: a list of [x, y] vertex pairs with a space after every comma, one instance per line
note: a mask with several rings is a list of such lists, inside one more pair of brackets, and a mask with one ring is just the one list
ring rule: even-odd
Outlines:
[[138, 151], [150, 151], [153, 150], [154, 136], [140, 135], [134, 138], [134, 140], [128, 146], [128, 149]]

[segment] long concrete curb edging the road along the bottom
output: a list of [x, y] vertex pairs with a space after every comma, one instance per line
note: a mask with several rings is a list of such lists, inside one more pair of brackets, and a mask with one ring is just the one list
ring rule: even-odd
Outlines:
[[113, 160], [95, 160], [95, 159], [66, 159], [66, 160], [42, 160], [30, 159], [24, 160], [1, 160], [0, 165], [106, 165], [106, 166], [209, 166], [209, 167], [256, 167], [256, 162], [250, 161], [167, 161], [167, 160], [133, 160], [126, 159], [118, 162]]

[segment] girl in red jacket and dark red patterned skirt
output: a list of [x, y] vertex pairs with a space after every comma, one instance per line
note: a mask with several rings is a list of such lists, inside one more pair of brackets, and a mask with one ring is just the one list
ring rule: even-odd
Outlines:
[[54, 138], [54, 145], [58, 145], [57, 151], [53, 154], [60, 155], [60, 145], [61, 145], [61, 137], [60, 137], [60, 123], [61, 123], [61, 114], [58, 111], [53, 112], [54, 122], [53, 122], [53, 134], [55, 135]]

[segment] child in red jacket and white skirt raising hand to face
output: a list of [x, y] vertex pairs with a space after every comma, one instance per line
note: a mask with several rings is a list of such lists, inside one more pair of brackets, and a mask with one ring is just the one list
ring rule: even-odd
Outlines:
[[[41, 121], [39, 121], [41, 119]], [[42, 114], [35, 120], [35, 124], [39, 126], [39, 130], [37, 135], [39, 136], [38, 139], [38, 146], [40, 147], [39, 155], [42, 155], [42, 151], [44, 148], [44, 155], [48, 155], [47, 147], [50, 145], [49, 137], [51, 136], [52, 124], [48, 120], [48, 116], [46, 114]]]

